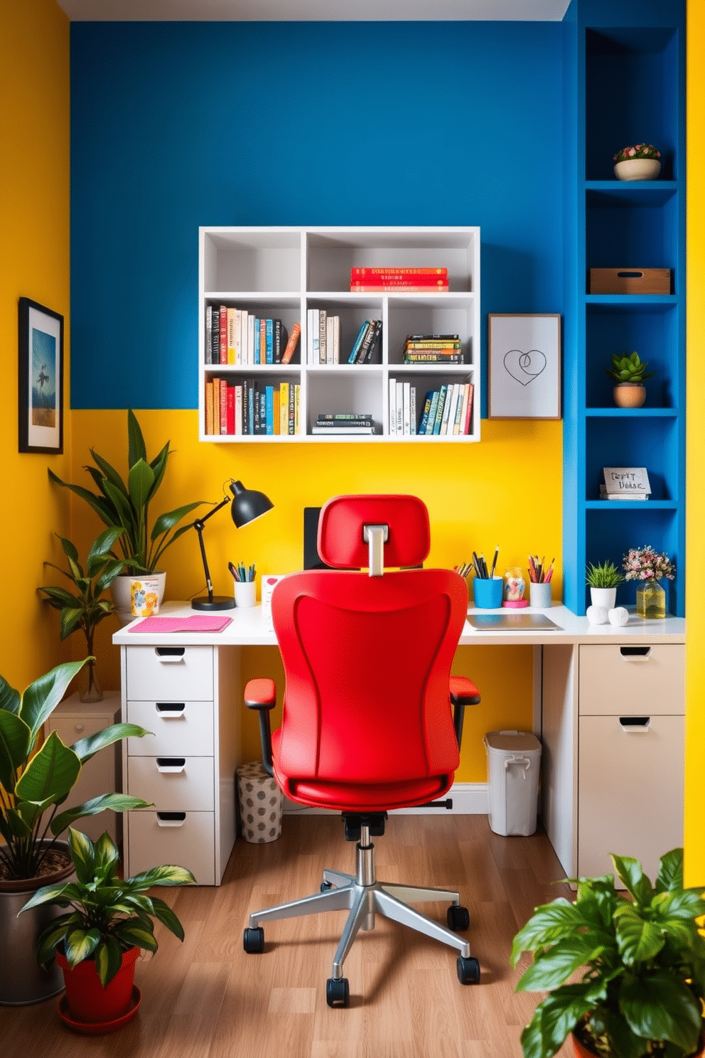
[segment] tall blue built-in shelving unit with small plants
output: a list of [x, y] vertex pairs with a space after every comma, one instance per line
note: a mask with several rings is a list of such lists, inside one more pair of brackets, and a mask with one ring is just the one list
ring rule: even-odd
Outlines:
[[[651, 544], [675, 560], [669, 609], [684, 615], [685, 0], [572, 0], [564, 69], [564, 601], [583, 614], [589, 562]], [[662, 153], [657, 180], [613, 174], [621, 147]], [[591, 268], [668, 268], [671, 292], [591, 294]], [[614, 406], [613, 352], [655, 370], [642, 408]], [[646, 467], [645, 501], [599, 499], [602, 467]], [[635, 584], [617, 591], [634, 602]]]

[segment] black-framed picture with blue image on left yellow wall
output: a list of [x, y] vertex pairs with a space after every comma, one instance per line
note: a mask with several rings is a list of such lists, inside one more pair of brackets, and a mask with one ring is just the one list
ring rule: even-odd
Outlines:
[[19, 299], [19, 451], [63, 452], [63, 316]]

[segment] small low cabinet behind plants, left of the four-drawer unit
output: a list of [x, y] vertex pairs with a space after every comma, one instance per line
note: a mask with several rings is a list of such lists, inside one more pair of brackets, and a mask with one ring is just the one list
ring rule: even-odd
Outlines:
[[[96, 734], [111, 724], [119, 724], [119, 694], [106, 691], [101, 701], [80, 701], [77, 694], [59, 703], [47, 720], [47, 730], [56, 731], [62, 743], [72, 746], [79, 738]], [[66, 803], [67, 808], [90, 801], [101, 794], [114, 794], [122, 788], [119, 743], [107, 746], [81, 767], [76, 785]], [[122, 820], [114, 811], [77, 819], [76, 829], [96, 841], [107, 831], [113, 841], [122, 839]]]

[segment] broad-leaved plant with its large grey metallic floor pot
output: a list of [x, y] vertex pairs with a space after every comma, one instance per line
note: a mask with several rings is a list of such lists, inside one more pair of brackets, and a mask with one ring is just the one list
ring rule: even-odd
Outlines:
[[147, 734], [144, 728], [112, 724], [73, 746], [53, 731], [38, 748], [44, 720], [85, 663], [59, 664], [21, 694], [0, 676], [0, 1004], [35, 1003], [61, 990], [60, 973], [43, 973], [34, 956], [36, 938], [53, 911], [38, 908], [17, 918], [37, 889], [56, 880], [52, 875], [67, 877], [72, 872], [68, 846], [59, 836], [77, 819], [105, 808], [147, 807], [145, 801], [123, 794], [64, 807], [82, 763], [120, 738]]

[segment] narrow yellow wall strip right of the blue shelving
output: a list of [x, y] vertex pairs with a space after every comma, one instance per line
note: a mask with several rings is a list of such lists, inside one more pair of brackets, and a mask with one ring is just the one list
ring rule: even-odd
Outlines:
[[703, 544], [705, 497], [703, 453], [705, 423], [700, 398], [705, 386], [705, 8], [688, 2], [688, 522], [686, 553], [686, 787], [685, 865], [688, 884], [705, 886], [703, 834], [703, 758], [705, 756], [705, 615], [703, 610]]

